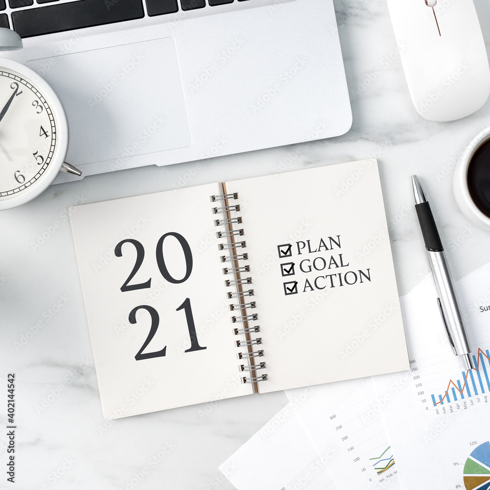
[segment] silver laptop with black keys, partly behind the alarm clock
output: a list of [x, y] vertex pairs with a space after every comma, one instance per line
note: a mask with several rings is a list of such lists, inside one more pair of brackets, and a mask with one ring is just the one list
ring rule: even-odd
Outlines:
[[[83, 175], [329, 138], [352, 123], [332, 0], [0, 0]], [[56, 182], [73, 179], [60, 175]]]

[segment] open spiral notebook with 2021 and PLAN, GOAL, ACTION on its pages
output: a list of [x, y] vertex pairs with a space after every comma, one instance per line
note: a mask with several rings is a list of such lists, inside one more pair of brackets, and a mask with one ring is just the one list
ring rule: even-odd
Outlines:
[[409, 368], [376, 160], [70, 213], [104, 417]]

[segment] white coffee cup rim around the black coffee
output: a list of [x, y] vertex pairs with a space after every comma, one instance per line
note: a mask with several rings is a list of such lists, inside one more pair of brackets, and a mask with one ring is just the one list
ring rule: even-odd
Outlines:
[[[466, 147], [454, 170], [453, 191], [456, 202], [468, 220], [490, 231], [490, 218], [476, 206], [468, 189], [468, 166], [476, 150], [490, 140], [490, 127]], [[489, 162], [490, 164], [490, 162]]]

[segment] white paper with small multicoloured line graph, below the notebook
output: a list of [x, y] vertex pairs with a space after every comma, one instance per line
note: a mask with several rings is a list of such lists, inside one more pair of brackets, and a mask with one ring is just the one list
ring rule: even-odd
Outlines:
[[[398, 376], [402, 373], [398, 373]], [[321, 454], [333, 448], [326, 462], [339, 490], [401, 490], [396, 457], [381, 417], [382, 400], [372, 378], [311, 387], [296, 416]], [[300, 390], [287, 390], [292, 401]]]

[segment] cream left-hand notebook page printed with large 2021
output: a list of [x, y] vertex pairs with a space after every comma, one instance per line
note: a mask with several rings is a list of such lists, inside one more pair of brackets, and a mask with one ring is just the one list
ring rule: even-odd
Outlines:
[[104, 417], [251, 393], [240, 382], [211, 212], [217, 190], [70, 209]]

